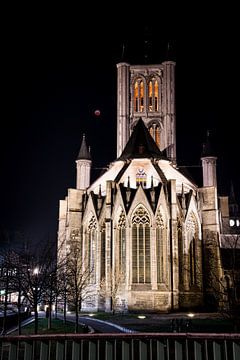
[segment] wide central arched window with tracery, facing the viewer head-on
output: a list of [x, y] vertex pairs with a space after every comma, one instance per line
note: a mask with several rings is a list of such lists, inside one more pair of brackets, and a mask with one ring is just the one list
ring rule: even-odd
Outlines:
[[139, 206], [132, 218], [132, 282], [150, 283], [150, 218]]

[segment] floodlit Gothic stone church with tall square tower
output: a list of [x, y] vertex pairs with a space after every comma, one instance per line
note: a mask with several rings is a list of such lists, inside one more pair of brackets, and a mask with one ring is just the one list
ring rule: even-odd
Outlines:
[[218, 196], [208, 141], [201, 187], [177, 166], [175, 62], [117, 64], [116, 148], [91, 183], [83, 135], [76, 188], [60, 200], [58, 257], [78, 244], [80, 273], [89, 272], [81, 310], [219, 308], [232, 281], [222, 249], [239, 239], [239, 209]]

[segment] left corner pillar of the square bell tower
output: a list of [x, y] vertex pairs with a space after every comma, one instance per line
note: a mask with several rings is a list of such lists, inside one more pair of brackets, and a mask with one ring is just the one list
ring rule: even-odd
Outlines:
[[117, 158], [129, 139], [130, 90], [127, 63], [117, 64]]

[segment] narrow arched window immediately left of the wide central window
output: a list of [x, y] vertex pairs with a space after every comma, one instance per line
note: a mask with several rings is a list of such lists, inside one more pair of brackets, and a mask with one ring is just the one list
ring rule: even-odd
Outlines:
[[126, 217], [123, 212], [118, 219], [117, 224], [117, 239], [118, 239], [118, 254], [117, 254], [117, 266], [118, 266], [118, 273], [122, 275], [120, 278], [124, 279], [126, 274]]

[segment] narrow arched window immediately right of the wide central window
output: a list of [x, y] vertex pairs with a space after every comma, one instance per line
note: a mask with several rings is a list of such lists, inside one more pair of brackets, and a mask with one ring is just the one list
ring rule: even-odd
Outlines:
[[157, 282], [162, 283], [164, 282], [164, 243], [166, 229], [164, 226], [162, 214], [159, 210], [156, 217], [156, 225]]

